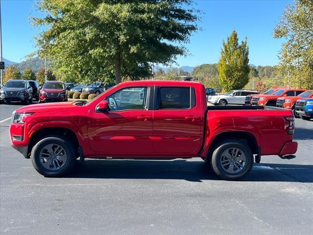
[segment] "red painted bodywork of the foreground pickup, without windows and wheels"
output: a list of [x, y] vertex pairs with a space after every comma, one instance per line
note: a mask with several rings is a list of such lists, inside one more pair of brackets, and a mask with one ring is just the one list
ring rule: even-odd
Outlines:
[[[98, 103], [121, 88], [149, 86], [192, 87], [196, 105], [186, 110], [126, 110], [96, 112]], [[206, 110], [204, 86], [185, 81], [124, 82], [86, 105], [77, 102], [24, 106], [16, 113], [33, 113], [25, 123], [12, 123], [10, 138], [17, 147], [27, 147], [36, 131], [67, 128], [74, 132], [85, 158], [97, 157], [205, 157], [210, 144], [225, 132], [247, 132], [261, 147], [261, 155], [291, 152], [296, 146], [287, 134], [289, 110]], [[148, 118], [142, 118], [142, 116]], [[47, 133], [49, 134], [49, 133]], [[13, 141], [12, 135], [23, 135]], [[286, 150], [282, 150], [285, 149]], [[291, 149], [291, 150], [290, 150]]]

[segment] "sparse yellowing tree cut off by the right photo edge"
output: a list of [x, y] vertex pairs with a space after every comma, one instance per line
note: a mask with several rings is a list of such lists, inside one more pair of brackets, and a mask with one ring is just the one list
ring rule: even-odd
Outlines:
[[281, 68], [290, 71], [290, 85], [313, 89], [313, 1], [287, 4], [273, 37], [287, 40], [279, 59]]

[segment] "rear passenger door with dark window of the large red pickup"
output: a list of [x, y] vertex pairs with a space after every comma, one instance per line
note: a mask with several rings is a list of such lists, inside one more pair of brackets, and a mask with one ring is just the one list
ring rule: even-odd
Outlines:
[[[153, 114], [154, 152], [195, 154], [203, 139], [201, 91], [188, 86], [156, 87]], [[203, 92], [203, 95], [204, 92]]]

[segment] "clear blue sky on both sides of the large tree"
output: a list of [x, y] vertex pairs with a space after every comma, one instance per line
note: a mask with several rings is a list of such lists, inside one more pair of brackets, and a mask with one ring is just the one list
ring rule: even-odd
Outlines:
[[[232, 30], [240, 40], [248, 39], [250, 64], [276, 65], [277, 53], [283, 40], [273, 39], [272, 32], [279, 21], [287, 0], [199, 0], [197, 8], [203, 11], [199, 23], [202, 31], [195, 33], [185, 45], [190, 55], [178, 57], [179, 66], [197, 66], [217, 63], [223, 40]], [[33, 37], [39, 29], [27, 21], [38, 15], [33, 0], [2, 0], [3, 57], [14, 62], [35, 50]]]

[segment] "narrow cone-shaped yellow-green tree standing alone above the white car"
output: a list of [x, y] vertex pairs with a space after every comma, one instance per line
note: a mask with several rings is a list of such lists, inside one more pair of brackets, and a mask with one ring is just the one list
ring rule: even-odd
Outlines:
[[249, 48], [247, 41], [238, 43], [238, 35], [234, 30], [227, 42], [223, 41], [221, 58], [218, 63], [220, 83], [225, 91], [243, 88], [249, 81]]

